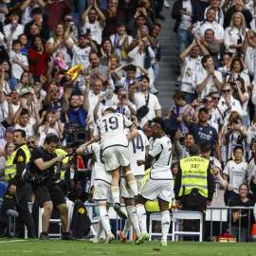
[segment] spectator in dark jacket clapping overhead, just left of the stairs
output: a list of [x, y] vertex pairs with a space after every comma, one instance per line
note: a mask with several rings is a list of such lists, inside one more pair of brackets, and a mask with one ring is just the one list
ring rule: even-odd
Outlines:
[[135, 39], [137, 34], [141, 30], [148, 32], [149, 34], [153, 31], [153, 22], [150, 17], [148, 17], [146, 9], [137, 10], [135, 16], [129, 21], [127, 25], [128, 33]]

